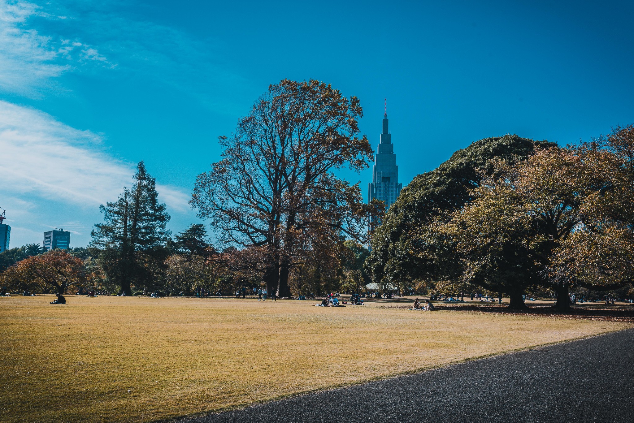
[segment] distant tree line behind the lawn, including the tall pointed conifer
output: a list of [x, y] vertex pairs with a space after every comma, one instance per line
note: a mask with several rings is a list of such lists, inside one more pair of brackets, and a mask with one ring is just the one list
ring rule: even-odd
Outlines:
[[[226, 295], [267, 286], [271, 255], [262, 246], [230, 245], [219, 251], [202, 224], [172, 237], [165, 229], [170, 216], [143, 162], [132, 187], [115, 202], [102, 205], [101, 211], [103, 223], [94, 225], [87, 248], [47, 252], [39, 244], [29, 244], [1, 253], [0, 286], [14, 292], [92, 290], [126, 296], [155, 291], [160, 296]], [[319, 252], [305, 249], [301, 261], [291, 266], [290, 294], [359, 292], [369, 281], [362, 270], [369, 254], [365, 247], [342, 235], [328, 235], [331, 238], [321, 241]]]

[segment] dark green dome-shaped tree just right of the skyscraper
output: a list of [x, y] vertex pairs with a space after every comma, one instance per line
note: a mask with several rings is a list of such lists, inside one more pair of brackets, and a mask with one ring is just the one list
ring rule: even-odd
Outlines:
[[375, 282], [458, 277], [459, 263], [444, 259], [454, 247], [430, 228], [432, 221], [473, 200], [472, 190], [493, 171], [491, 159], [515, 163], [531, 155], [536, 146], [548, 145], [553, 144], [517, 135], [486, 138], [453, 153], [433, 171], [418, 175], [403, 188], [372, 235], [366, 272]]

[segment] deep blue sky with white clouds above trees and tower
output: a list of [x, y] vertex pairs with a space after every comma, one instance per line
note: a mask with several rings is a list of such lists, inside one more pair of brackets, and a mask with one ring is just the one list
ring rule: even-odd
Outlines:
[[[145, 160], [178, 232], [198, 173], [268, 84], [383, 99], [406, 185], [505, 133], [565, 145], [634, 123], [631, 3], [0, 0], [0, 207], [11, 247], [89, 242]], [[341, 176], [363, 193], [370, 169]]]

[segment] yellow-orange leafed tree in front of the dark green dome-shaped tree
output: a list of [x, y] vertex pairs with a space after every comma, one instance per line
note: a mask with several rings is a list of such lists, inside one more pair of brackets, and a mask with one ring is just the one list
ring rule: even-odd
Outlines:
[[491, 165], [494, 171], [472, 190], [474, 200], [436, 225], [455, 242], [451, 257], [462, 263], [460, 278], [506, 292], [510, 308], [525, 307], [528, 287], [551, 283], [566, 307], [567, 284], [549, 281], [546, 269], [580, 222], [579, 206], [593, 189], [575, 177], [579, 158], [550, 147], [516, 164], [496, 159]]

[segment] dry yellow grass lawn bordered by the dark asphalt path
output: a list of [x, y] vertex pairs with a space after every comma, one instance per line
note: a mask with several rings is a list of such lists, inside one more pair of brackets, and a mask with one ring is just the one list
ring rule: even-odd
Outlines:
[[315, 301], [52, 299], [0, 297], [0, 420], [167, 419], [628, 327]]

